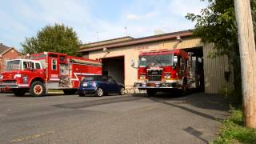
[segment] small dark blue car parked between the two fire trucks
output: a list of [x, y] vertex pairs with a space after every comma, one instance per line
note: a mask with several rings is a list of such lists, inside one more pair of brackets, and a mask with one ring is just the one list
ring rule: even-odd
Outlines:
[[107, 94], [125, 94], [125, 86], [118, 83], [114, 78], [106, 75], [91, 75], [85, 77], [78, 88], [79, 96], [96, 94], [102, 97]]

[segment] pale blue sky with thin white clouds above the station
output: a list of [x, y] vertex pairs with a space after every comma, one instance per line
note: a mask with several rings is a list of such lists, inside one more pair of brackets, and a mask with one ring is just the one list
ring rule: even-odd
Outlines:
[[83, 43], [142, 38], [194, 28], [187, 13], [200, 14], [200, 0], [0, 0], [0, 42], [21, 50], [43, 26], [70, 26]]

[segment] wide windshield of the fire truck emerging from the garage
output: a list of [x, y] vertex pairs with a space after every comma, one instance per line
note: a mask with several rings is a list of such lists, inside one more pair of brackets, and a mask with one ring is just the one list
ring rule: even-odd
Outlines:
[[162, 55], [142, 55], [139, 57], [138, 66], [151, 67], [151, 66], [172, 66], [173, 54]]

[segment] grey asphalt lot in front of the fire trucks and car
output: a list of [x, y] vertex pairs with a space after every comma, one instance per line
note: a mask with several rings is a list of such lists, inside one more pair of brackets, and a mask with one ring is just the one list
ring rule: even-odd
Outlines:
[[227, 109], [216, 94], [152, 98], [0, 94], [0, 142], [207, 143]]

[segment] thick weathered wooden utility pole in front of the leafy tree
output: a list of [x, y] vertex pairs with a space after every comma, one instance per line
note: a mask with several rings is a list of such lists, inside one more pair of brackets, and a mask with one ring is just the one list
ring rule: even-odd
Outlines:
[[234, 0], [242, 72], [243, 112], [246, 126], [256, 128], [256, 51], [250, 0]]

